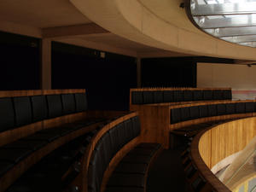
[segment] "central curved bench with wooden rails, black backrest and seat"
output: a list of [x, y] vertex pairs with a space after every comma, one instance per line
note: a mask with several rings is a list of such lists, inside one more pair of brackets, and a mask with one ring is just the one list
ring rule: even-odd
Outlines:
[[[129, 183], [132, 184], [136, 182], [134, 181], [134, 179], [139, 181], [138, 183], [145, 183], [146, 175], [148, 173], [147, 171], [144, 172], [143, 177], [136, 177], [137, 175], [135, 175], [136, 178], [133, 178], [133, 180], [129, 180], [127, 174], [125, 175], [125, 166], [123, 166], [122, 168], [118, 166], [119, 162], [122, 160], [128, 159], [128, 161], [132, 160], [134, 163], [137, 162], [137, 160], [142, 160], [138, 158], [137, 155], [139, 154], [137, 153], [148, 153], [148, 155], [152, 154], [152, 156], [146, 156], [146, 159], [149, 161], [154, 158], [154, 153], [158, 151], [157, 148], [154, 148], [155, 150], [153, 149], [149, 152], [145, 152], [145, 150], [142, 152], [140, 149], [138, 149], [138, 152], [136, 150], [137, 148], [143, 148], [142, 146], [146, 146], [145, 148], [147, 148], [147, 146], [150, 145], [139, 145], [139, 143], [141, 143], [140, 122], [136, 112], [127, 114], [122, 118], [116, 119], [111, 124], [104, 126], [100, 131], [98, 131], [96, 133], [96, 136], [92, 138], [91, 143], [89, 144], [89, 147], [84, 154], [84, 186], [82, 191], [105, 191], [107, 186], [107, 191], [110, 188], [111, 190], [119, 190], [120, 188], [123, 190], [127, 190], [130, 189], [127, 186], [127, 183], [129, 185]], [[133, 148], [135, 151], [133, 151]], [[130, 153], [133, 154], [132, 157]], [[128, 161], [123, 162], [127, 163]], [[149, 165], [150, 163], [148, 162], [148, 166]], [[146, 169], [148, 169], [148, 166], [146, 167]], [[126, 182], [123, 184], [119, 183], [118, 186], [113, 184], [114, 182], [116, 182], [113, 178], [116, 178], [116, 172], [113, 174], [116, 167], [119, 167], [117, 169], [123, 169], [122, 176]], [[130, 176], [133, 176], [132, 174], [136, 173], [130, 173]], [[111, 175], [113, 177], [111, 177]], [[135, 189], [144, 190], [143, 187], [140, 186], [133, 187]]]

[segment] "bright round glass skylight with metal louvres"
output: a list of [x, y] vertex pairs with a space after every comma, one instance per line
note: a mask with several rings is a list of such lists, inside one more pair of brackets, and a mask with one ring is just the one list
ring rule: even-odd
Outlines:
[[216, 38], [256, 47], [256, 0], [188, 0], [189, 17]]

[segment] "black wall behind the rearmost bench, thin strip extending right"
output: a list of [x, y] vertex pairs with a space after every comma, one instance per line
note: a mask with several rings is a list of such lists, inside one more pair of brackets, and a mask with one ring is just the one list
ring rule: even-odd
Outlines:
[[143, 87], [196, 87], [196, 63], [234, 63], [230, 59], [198, 56], [142, 59]]

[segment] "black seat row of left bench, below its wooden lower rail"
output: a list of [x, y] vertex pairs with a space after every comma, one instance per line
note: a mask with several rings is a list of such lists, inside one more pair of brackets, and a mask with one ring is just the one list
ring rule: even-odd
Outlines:
[[0, 147], [0, 177], [8, 172], [20, 161], [29, 155], [36, 153], [40, 148], [55, 142], [55, 140], [66, 137], [74, 131], [84, 129], [84, 132], [90, 131], [90, 125], [105, 125], [105, 119], [84, 119], [71, 124], [61, 125], [50, 129], [37, 131], [32, 135], [22, 137], [15, 142], [5, 144]]

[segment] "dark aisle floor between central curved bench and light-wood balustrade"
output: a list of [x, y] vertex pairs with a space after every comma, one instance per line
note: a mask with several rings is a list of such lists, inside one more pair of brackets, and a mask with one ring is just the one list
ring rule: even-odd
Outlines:
[[148, 173], [147, 192], [189, 192], [180, 158], [183, 149], [163, 150]]

